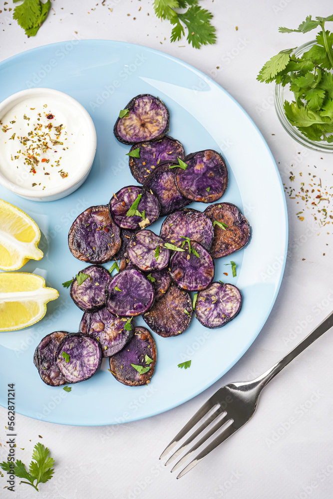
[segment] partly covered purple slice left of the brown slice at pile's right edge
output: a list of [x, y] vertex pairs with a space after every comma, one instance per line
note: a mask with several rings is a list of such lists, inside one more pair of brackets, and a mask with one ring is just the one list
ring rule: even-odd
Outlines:
[[185, 238], [197, 241], [210, 250], [214, 238], [214, 228], [206, 215], [193, 208], [184, 208], [168, 215], [164, 220], [160, 236], [167, 243], [181, 246]]

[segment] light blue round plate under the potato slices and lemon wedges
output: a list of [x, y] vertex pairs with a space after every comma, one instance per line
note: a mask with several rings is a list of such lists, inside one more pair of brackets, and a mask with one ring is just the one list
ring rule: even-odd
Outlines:
[[[68, 425], [107, 425], [134, 421], [167, 411], [218, 380], [244, 354], [263, 327], [275, 302], [287, 254], [287, 210], [279, 172], [256, 125], [219, 85], [188, 64], [139, 45], [107, 40], [56, 43], [29, 50], [0, 64], [0, 100], [26, 87], [49, 87], [68, 93], [90, 113], [97, 132], [97, 153], [86, 182], [70, 196], [53, 202], [24, 200], [0, 186], [0, 198], [30, 215], [40, 227], [44, 257], [30, 260], [35, 272], [60, 296], [47, 305], [33, 327], [0, 334], [0, 404], [5, 386], [15, 383], [16, 411], [31, 418]], [[39, 378], [32, 363], [35, 347], [55, 330], [77, 331], [82, 312], [62, 282], [84, 266], [67, 247], [68, 230], [87, 207], [107, 204], [113, 192], [136, 184], [113, 125], [132, 97], [159, 96], [170, 110], [170, 135], [187, 153], [221, 151], [229, 168], [223, 201], [235, 203], [252, 227], [250, 244], [216, 260], [215, 280], [236, 284], [243, 294], [239, 315], [220, 329], [207, 329], [195, 317], [184, 334], [162, 338], [153, 333], [158, 361], [147, 386], [127, 387], [108, 372], [108, 362], [89, 380], [66, 393]], [[198, 210], [205, 205], [192, 203]], [[161, 222], [151, 229], [159, 233]], [[232, 277], [234, 260], [237, 277]], [[110, 264], [105, 265], [109, 267]], [[228, 276], [224, 275], [228, 273]], [[137, 325], [145, 325], [141, 317]], [[190, 369], [179, 369], [184, 360]]]

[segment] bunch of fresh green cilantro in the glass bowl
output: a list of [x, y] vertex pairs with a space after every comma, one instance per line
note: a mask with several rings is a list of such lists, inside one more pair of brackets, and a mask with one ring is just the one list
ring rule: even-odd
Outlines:
[[266, 62], [257, 76], [265, 83], [290, 85], [295, 100], [285, 100], [286, 117], [313, 141], [333, 142], [333, 32], [325, 29], [325, 23], [330, 21], [333, 15], [316, 19], [309, 15], [296, 29], [280, 27], [281, 33], [307, 33], [318, 27], [322, 30], [316, 36], [317, 43], [301, 57], [292, 55], [293, 48], [282, 50]]

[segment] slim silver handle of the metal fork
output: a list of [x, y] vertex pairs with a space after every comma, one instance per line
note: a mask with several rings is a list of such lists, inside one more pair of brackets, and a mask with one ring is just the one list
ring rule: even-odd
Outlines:
[[333, 326], [333, 312], [331, 312], [308, 336], [304, 338], [293, 350], [285, 355], [279, 362], [277, 362], [268, 371], [264, 372], [261, 376], [253, 382], [258, 382], [264, 388], [274, 376], [276, 376], [289, 362], [297, 357], [303, 350], [308, 348], [314, 341], [317, 340], [322, 334], [326, 333]]

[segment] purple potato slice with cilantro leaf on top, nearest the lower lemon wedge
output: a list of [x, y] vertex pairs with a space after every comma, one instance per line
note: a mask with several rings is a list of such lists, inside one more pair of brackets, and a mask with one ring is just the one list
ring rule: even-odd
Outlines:
[[106, 268], [100, 265], [90, 265], [81, 270], [88, 275], [80, 285], [77, 278], [70, 285], [70, 296], [81, 310], [92, 312], [105, 305], [105, 289], [111, 279]]

